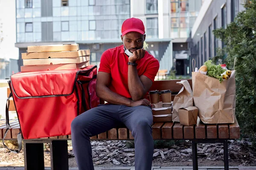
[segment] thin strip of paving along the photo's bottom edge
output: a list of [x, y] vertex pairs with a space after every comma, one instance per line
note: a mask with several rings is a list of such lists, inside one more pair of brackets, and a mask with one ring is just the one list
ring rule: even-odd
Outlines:
[[[230, 170], [256, 170], [256, 167], [229, 167]], [[51, 168], [46, 167], [45, 170]], [[24, 170], [24, 167], [4, 168], [0, 170]], [[71, 167], [69, 170], [78, 170], [77, 167]], [[95, 167], [94, 170], [135, 170], [134, 167]], [[152, 170], [193, 170], [193, 167], [152, 167]], [[224, 170], [224, 167], [198, 167], [198, 170]]]

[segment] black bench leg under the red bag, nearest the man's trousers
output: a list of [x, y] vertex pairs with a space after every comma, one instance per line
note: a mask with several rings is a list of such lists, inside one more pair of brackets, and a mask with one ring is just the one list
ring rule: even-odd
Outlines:
[[50, 143], [51, 170], [68, 170], [67, 140]]

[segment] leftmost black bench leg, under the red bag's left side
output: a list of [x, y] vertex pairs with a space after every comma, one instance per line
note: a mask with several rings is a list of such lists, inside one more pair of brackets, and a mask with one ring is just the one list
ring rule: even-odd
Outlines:
[[44, 144], [23, 142], [25, 170], [44, 170]]

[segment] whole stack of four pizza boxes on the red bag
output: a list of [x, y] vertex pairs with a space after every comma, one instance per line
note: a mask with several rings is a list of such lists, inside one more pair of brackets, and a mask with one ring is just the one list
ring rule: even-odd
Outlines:
[[90, 50], [78, 44], [28, 46], [21, 72], [80, 69], [90, 65]]

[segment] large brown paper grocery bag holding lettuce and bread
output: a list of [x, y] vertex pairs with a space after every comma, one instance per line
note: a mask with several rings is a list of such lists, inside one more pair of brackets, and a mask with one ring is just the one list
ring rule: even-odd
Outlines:
[[192, 72], [192, 88], [198, 116], [206, 124], [234, 123], [236, 111], [235, 71], [229, 79], [209, 77], [199, 72]]

